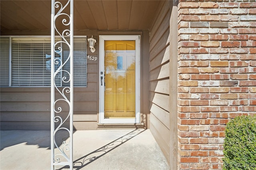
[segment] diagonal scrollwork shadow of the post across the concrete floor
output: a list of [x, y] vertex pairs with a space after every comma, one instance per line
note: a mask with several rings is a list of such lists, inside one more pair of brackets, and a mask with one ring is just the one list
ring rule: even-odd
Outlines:
[[[125, 142], [127, 142], [128, 140], [132, 139], [133, 137], [142, 133], [145, 130], [146, 129], [136, 129], [134, 131], [131, 131], [130, 133], [127, 133], [126, 135], [116, 139], [115, 141], [112, 141], [111, 143], [108, 143], [107, 145], [105, 145], [97, 150], [94, 150], [93, 152], [86, 154], [85, 156], [82, 156], [81, 158], [79, 158], [77, 160], [74, 160], [73, 168], [75, 170], [80, 170], [84, 166], [86, 166], [86, 165], [92, 163], [94, 160], [97, 160], [98, 158], [104, 156], [111, 150], [116, 149], [120, 145], [124, 144]], [[60, 168], [59, 170], [66, 169], [66, 168], [69, 168], [69, 166], [64, 166], [64, 167]]]

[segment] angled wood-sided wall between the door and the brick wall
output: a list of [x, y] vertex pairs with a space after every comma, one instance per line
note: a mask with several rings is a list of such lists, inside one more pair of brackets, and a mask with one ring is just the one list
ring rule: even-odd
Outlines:
[[170, 158], [170, 1], [163, 1], [150, 29], [150, 130]]

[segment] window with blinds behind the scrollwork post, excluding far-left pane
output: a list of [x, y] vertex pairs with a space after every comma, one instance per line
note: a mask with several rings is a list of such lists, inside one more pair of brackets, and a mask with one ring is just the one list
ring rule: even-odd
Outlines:
[[[12, 72], [11, 86], [50, 86], [51, 84], [51, 41], [47, 38], [12, 38]], [[87, 51], [86, 37], [74, 37], [74, 86], [87, 86]], [[69, 49], [64, 43], [60, 44], [62, 53], [55, 54], [55, 58], [66, 61]], [[70, 63], [64, 65], [63, 70], [70, 71]], [[58, 65], [56, 65], [56, 69]], [[58, 86], [69, 86], [61, 81], [69, 76], [60, 72], [56, 77]]]

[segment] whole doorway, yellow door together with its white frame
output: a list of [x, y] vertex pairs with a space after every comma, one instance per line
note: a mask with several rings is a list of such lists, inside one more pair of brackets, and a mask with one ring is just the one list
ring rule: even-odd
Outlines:
[[140, 36], [100, 36], [99, 123], [140, 122]]

